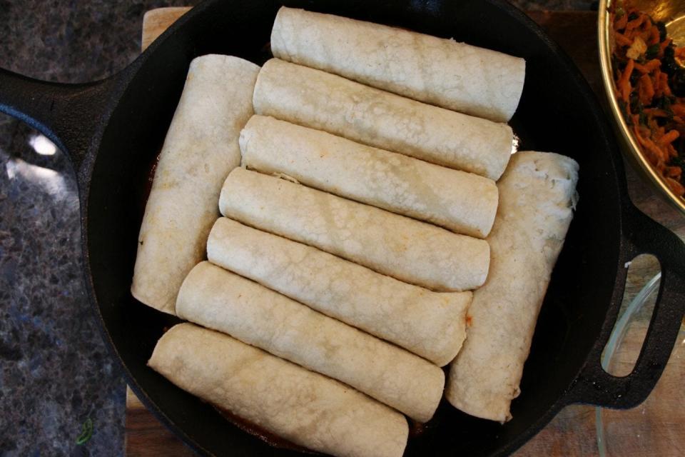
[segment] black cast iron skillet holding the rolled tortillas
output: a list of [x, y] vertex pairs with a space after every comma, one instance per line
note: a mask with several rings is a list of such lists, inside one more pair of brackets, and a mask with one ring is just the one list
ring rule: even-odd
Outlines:
[[[443, 404], [407, 455], [502, 456], [570, 403], [629, 408], [646, 398], [669, 358], [685, 307], [685, 248], [627, 197], [619, 151], [589, 86], [559, 47], [499, 0], [288, 1], [464, 40], [527, 61], [512, 126], [522, 149], [557, 151], [580, 164], [580, 203], [542, 308], [514, 418], [501, 426]], [[262, 64], [278, 2], [206, 1], [140, 58], [93, 84], [47, 84], [0, 72], [0, 111], [49, 136], [78, 176], [84, 270], [103, 336], [139, 398], [189, 446], [205, 454], [271, 455], [278, 450], [227, 423], [210, 406], [146, 367], [173, 318], [141, 305], [133, 275], [148, 171], [176, 107], [188, 64], [208, 53]], [[593, 37], [588, 37], [593, 39]], [[633, 373], [605, 373], [599, 356], [617, 318], [626, 262], [654, 253], [662, 285]], [[512, 271], [512, 276], [517, 272]], [[75, 348], [75, 350], [78, 350]]]

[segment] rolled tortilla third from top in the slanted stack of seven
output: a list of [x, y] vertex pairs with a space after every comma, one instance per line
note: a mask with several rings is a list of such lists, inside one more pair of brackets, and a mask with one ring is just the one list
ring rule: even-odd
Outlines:
[[497, 212], [492, 179], [273, 117], [250, 118], [240, 132], [240, 152], [249, 169], [283, 173], [315, 189], [477, 238], [487, 236]]

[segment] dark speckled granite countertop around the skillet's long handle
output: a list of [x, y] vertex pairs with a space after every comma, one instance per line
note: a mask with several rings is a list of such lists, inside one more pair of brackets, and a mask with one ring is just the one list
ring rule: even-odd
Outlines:
[[[50, 81], [99, 79], [136, 57], [146, 10], [194, 3], [0, 0], [0, 66]], [[76, 182], [61, 151], [36, 151], [50, 144], [0, 115], [0, 456], [120, 456], [125, 385], [84, 293]], [[88, 418], [92, 438], [78, 445]]]

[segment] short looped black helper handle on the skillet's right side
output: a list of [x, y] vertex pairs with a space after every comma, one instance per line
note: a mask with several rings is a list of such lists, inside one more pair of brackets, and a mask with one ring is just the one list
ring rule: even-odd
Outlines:
[[[641, 253], [651, 253], [661, 263], [661, 286], [640, 355], [628, 376], [617, 377], [604, 371], [602, 349], [611, 333], [605, 322], [589, 362], [572, 386], [570, 403], [591, 403], [607, 408], [632, 408], [642, 403], [659, 381], [669, 361], [685, 314], [685, 245], [673, 232], [649, 219], [632, 204], [624, 212], [623, 241], [626, 261]], [[604, 330], [607, 330], [606, 332]]]

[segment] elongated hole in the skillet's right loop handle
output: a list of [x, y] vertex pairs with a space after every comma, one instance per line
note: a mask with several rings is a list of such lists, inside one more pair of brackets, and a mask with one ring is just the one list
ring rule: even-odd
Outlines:
[[626, 266], [626, 288], [619, 318], [602, 351], [602, 368], [613, 376], [628, 376], [633, 371], [661, 282], [659, 260], [651, 254], [640, 254]]

